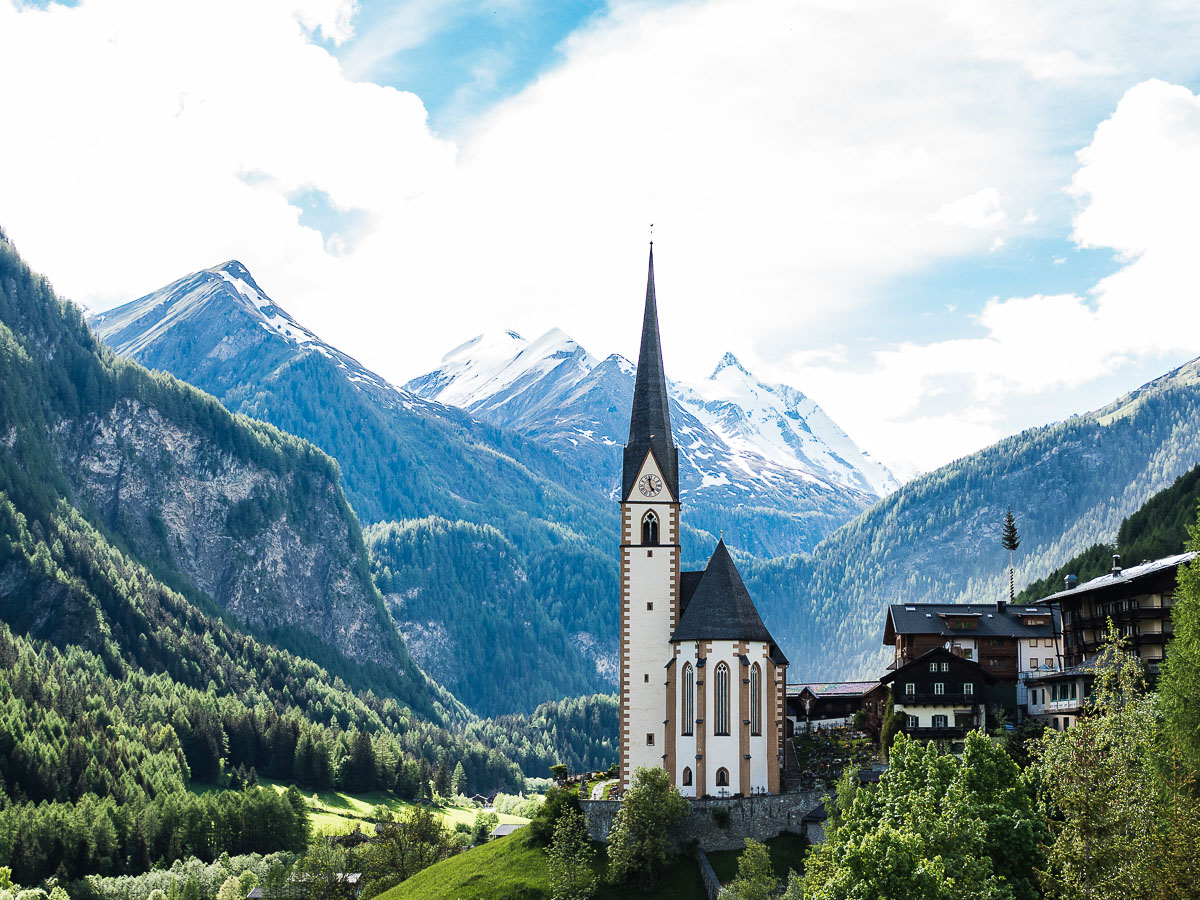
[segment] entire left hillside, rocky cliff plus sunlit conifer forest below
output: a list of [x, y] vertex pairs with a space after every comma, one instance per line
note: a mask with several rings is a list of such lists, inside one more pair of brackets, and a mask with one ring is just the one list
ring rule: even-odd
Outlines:
[[502, 726], [426, 679], [334, 463], [113, 356], [2, 233], [0, 385], [0, 866], [19, 881], [304, 846], [298, 796], [187, 791], [235, 767], [415, 796], [460, 763], [469, 790], [511, 791], [517, 758], [606, 758], [593, 702]]

